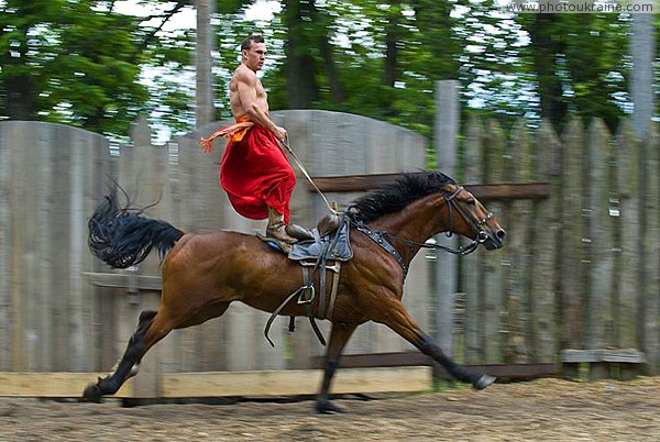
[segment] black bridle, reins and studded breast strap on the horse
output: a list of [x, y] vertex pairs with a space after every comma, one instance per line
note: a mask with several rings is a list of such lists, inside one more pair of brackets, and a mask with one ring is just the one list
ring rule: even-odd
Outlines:
[[353, 223], [355, 224], [358, 230], [365, 233], [367, 236], [370, 236], [372, 240], [374, 240], [381, 247], [385, 248], [385, 251], [387, 251], [389, 254], [392, 254], [396, 258], [396, 261], [399, 263], [399, 265], [404, 269], [404, 276], [405, 276], [408, 270], [408, 267], [404, 263], [403, 257], [400, 256], [398, 251], [396, 251], [396, 248], [394, 248], [394, 246], [386, 241], [387, 237], [391, 237], [391, 239], [393, 239], [402, 244], [408, 245], [410, 247], [441, 250], [441, 251], [449, 252], [449, 253], [452, 253], [454, 255], [460, 255], [460, 256], [464, 256], [464, 255], [468, 255], [468, 254], [474, 252], [479, 247], [480, 244], [484, 243], [488, 239], [488, 233], [485, 231], [484, 225], [494, 217], [493, 213], [487, 212], [486, 216], [482, 219], [477, 219], [476, 217], [474, 217], [474, 214], [469, 212], [468, 210], [465, 210], [465, 208], [462, 207], [462, 205], [459, 205], [459, 201], [457, 200], [457, 196], [462, 190], [463, 190], [462, 186], [458, 186], [453, 192], [450, 192], [448, 190], [442, 190], [442, 197], [444, 198], [444, 202], [446, 202], [448, 211], [449, 211], [449, 229], [446, 233], [447, 237], [451, 237], [453, 235], [453, 224], [454, 224], [453, 211], [454, 210], [457, 212], [459, 212], [459, 214], [461, 217], [463, 217], [463, 220], [465, 220], [465, 222], [472, 228], [474, 233], [476, 233], [475, 239], [472, 240], [472, 242], [470, 244], [468, 244], [463, 247], [451, 248], [451, 247], [447, 247], [444, 245], [439, 245], [439, 244], [418, 243], [416, 241], [406, 240], [405, 237], [395, 235], [395, 234], [386, 232], [386, 231], [375, 231], [375, 230], [369, 229], [363, 222], [356, 222], [355, 220], [353, 220]]

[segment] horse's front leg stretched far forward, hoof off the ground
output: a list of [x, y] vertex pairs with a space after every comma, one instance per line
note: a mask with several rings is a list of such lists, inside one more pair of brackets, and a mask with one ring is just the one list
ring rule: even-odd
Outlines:
[[387, 303], [387, 307], [383, 306], [383, 317], [374, 319], [374, 321], [389, 327], [406, 341], [419, 349], [419, 351], [421, 351], [424, 354], [431, 356], [435, 361], [440, 363], [440, 365], [442, 365], [454, 378], [472, 384], [472, 386], [477, 390], [486, 388], [496, 380], [496, 378], [493, 376], [473, 372], [453, 362], [442, 352], [433, 339], [426, 334], [417, 325], [400, 301], [392, 299], [388, 300]]

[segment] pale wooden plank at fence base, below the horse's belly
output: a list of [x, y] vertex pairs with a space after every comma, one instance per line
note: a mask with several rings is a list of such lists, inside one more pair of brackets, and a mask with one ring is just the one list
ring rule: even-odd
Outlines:
[[[316, 395], [323, 372], [262, 371], [166, 374], [162, 397]], [[342, 369], [332, 394], [422, 391], [431, 387], [430, 367]]]

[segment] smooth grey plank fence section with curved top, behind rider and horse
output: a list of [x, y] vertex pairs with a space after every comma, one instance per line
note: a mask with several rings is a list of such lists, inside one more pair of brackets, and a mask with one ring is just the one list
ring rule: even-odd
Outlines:
[[[425, 165], [427, 141], [391, 124], [323, 111], [274, 112], [273, 118], [287, 128], [293, 148], [314, 175], [392, 174]], [[227, 123], [153, 146], [148, 125], [139, 121], [132, 144], [112, 150], [100, 136], [62, 125], [0, 123], [0, 372], [108, 371], [139, 312], [157, 306], [156, 256], [136, 269], [111, 270], [87, 250], [87, 218], [113, 178], [139, 206], [160, 200], [147, 216], [184, 231], [263, 230], [265, 222], [238, 216], [219, 188], [223, 143], [217, 142], [212, 155], [199, 148], [201, 135]], [[298, 181], [292, 216], [312, 225], [323, 207], [301, 175]], [[355, 195], [330, 192], [328, 198], [344, 206]], [[421, 261], [407, 298], [428, 325]], [[163, 373], [311, 368], [323, 349], [307, 321], [299, 320], [290, 334], [287, 320], [277, 320], [271, 331], [277, 346], [271, 349], [263, 338], [267, 318], [235, 303], [221, 320], [173, 332], [147, 354], [130, 394], [157, 395]], [[348, 350], [411, 349], [383, 327], [367, 324]]]

